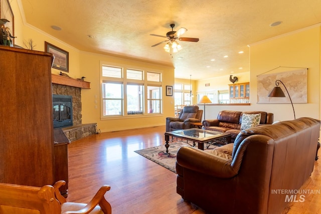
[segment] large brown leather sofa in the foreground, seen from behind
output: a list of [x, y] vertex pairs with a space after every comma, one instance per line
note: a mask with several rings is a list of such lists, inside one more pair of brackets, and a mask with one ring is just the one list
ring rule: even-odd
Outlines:
[[242, 130], [209, 152], [183, 146], [177, 193], [209, 213], [282, 213], [293, 194], [285, 191], [313, 171], [319, 130], [319, 120], [304, 117]]

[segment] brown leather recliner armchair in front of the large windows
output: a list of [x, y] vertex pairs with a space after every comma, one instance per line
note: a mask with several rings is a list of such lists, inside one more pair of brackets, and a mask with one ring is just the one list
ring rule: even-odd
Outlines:
[[198, 106], [184, 106], [178, 118], [166, 118], [166, 132], [193, 128], [192, 123], [200, 123], [202, 116], [203, 110], [199, 110]]

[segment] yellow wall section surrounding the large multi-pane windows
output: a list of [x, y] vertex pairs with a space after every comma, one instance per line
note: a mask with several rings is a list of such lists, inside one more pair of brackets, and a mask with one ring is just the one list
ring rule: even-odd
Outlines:
[[[124, 118], [100, 119], [100, 61], [141, 66], [151, 70], [163, 71], [163, 114], [146, 116], [130, 115]], [[124, 58], [98, 55], [92, 53], [80, 53], [80, 74], [91, 82], [90, 89], [82, 89], [82, 120], [83, 123], [97, 123], [102, 131], [115, 131], [150, 126], [165, 125], [166, 117], [174, 117], [174, 96], [166, 96], [167, 85], [174, 86], [174, 68], [156, 65], [152, 63], [134, 61]], [[95, 102], [97, 101], [97, 103]], [[95, 108], [95, 106], [98, 108]]]

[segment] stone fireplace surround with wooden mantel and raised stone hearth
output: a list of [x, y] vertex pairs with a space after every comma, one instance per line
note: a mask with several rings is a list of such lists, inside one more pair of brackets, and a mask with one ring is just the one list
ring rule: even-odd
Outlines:
[[70, 142], [97, 133], [96, 123], [82, 124], [81, 89], [90, 89], [89, 82], [58, 75], [52, 75], [53, 97], [54, 95], [62, 95], [62, 97], [72, 97], [72, 108], [70, 111], [70, 113], [72, 112], [72, 126], [62, 128], [63, 132]]

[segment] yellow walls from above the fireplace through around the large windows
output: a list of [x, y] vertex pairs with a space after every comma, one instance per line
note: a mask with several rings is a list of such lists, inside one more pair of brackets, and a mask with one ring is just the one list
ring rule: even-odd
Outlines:
[[[82, 89], [82, 123], [97, 123], [102, 132], [125, 130], [141, 127], [165, 125], [166, 117], [174, 117], [174, 96], [166, 96], [166, 86], [174, 86], [174, 67], [158, 65], [151, 62], [142, 62], [126, 58], [112, 57], [102, 54], [93, 54], [79, 51], [76, 48], [60, 41], [51, 35], [29, 25], [22, 16], [23, 10], [19, 0], [11, 1], [11, 7], [15, 15], [15, 44], [23, 48], [25, 41], [32, 39], [36, 44], [34, 50], [45, 51], [45, 41], [69, 52], [69, 73], [72, 78], [85, 76], [85, 81], [90, 82], [91, 89]], [[163, 72], [163, 113], [138, 116], [130, 115], [125, 119], [100, 119], [100, 61], [108, 61]], [[53, 74], [59, 74], [60, 70], [52, 69]], [[97, 103], [96, 103], [97, 102]], [[97, 108], [95, 108], [97, 106]]]

